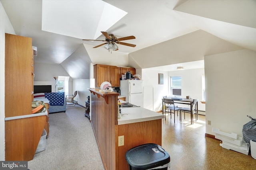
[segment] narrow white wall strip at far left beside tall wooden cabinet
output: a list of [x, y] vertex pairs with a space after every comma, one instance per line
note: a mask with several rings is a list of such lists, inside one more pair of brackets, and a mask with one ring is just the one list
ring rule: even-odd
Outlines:
[[4, 95], [5, 95], [5, 78], [4, 78], [4, 56], [5, 56], [5, 33], [16, 34], [10, 20], [0, 2], [0, 160], [5, 160], [5, 113], [4, 113]]

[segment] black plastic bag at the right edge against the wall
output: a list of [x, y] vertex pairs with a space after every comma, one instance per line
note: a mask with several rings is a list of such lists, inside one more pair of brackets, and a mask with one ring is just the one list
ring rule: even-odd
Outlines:
[[246, 143], [250, 143], [250, 140], [256, 142], [256, 119], [253, 119], [248, 115], [247, 117], [249, 117], [252, 120], [243, 126], [242, 133], [243, 133], [244, 141]]

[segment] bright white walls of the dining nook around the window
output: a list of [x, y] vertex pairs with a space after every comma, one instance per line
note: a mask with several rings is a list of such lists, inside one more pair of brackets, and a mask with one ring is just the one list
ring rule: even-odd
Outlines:
[[[158, 84], [158, 73], [164, 74], [164, 84]], [[144, 89], [148, 90], [149, 87], [153, 88], [153, 111], [162, 110], [162, 98], [163, 96], [170, 96], [170, 76], [182, 76], [182, 98], [190, 96], [191, 98], [198, 98], [198, 101], [202, 101], [202, 75], [204, 74], [204, 68], [191, 69], [191, 70], [177, 70], [177, 71], [157, 71], [142, 69]], [[144, 107], [151, 108], [149, 98], [144, 97]], [[179, 107], [187, 107], [186, 105], [178, 105]], [[198, 109], [205, 111], [205, 105], [198, 102]]]

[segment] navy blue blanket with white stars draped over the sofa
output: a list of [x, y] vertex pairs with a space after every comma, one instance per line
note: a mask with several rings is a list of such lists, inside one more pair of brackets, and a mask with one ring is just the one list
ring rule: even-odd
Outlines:
[[50, 101], [50, 106], [63, 106], [64, 105], [64, 92], [52, 92], [52, 93], [44, 93], [45, 98]]

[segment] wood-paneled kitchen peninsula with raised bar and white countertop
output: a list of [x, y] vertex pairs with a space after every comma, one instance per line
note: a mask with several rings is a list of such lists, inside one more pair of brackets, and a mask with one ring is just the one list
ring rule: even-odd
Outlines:
[[[106, 170], [128, 170], [126, 151], [138, 145], [162, 145], [162, 118], [164, 115], [143, 107], [122, 108], [117, 119], [118, 93], [91, 92], [91, 123], [102, 162]], [[124, 136], [124, 145], [118, 147], [118, 136]]]

